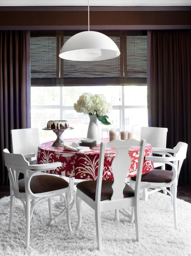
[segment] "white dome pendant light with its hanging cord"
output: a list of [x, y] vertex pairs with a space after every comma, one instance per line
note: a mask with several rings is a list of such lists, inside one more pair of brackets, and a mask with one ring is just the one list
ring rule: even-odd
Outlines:
[[60, 50], [59, 57], [76, 61], [112, 59], [120, 55], [117, 45], [108, 36], [90, 31], [88, 0], [88, 31], [70, 37]]

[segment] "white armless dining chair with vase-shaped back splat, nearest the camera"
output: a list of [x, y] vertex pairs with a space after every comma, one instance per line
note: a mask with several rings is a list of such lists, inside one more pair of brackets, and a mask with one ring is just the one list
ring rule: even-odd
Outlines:
[[[128, 155], [130, 147], [140, 146], [139, 162], [136, 176], [135, 190], [125, 183], [127, 171], [131, 165]], [[114, 181], [102, 181], [104, 168], [104, 152], [107, 148], [116, 148], [117, 155], [112, 162], [112, 172]], [[77, 184], [76, 208], [78, 213], [78, 223], [76, 228], [81, 227], [82, 213], [81, 202], [85, 201], [95, 210], [95, 226], [97, 236], [97, 247], [102, 249], [100, 212], [124, 207], [134, 207], [136, 240], [140, 241], [140, 217], [139, 217], [139, 192], [140, 179], [142, 174], [144, 158], [145, 140], [112, 140], [108, 143], [102, 142], [100, 145], [100, 158], [98, 166], [97, 181], [84, 181]]]

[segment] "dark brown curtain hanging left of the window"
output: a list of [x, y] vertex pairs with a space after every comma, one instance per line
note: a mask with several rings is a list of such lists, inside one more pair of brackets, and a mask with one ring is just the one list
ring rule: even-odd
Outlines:
[[28, 126], [28, 33], [0, 31], [0, 185], [9, 181], [3, 149], [11, 151], [10, 130]]

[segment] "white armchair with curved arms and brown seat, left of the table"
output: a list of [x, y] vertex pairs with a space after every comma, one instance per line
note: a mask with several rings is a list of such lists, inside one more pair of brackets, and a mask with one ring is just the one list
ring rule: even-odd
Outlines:
[[[35, 164], [30, 165], [29, 162], [21, 154], [11, 154], [8, 149], [3, 150], [5, 166], [8, 169], [10, 180], [10, 216], [9, 227], [12, 228], [14, 198], [20, 199], [24, 205], [24, 213], [26, 219], [26, 248], [29, 247], [30, 239], [30, 220], [33, 216], [33, 210], [42, 200], [60, 196], [64, 199], [66, 207], [66, 216], [68, 229], [71, 231], [70, 225], [70, 207], [69, 207], [69, 190], [70, 186], [67, 181], [62, 178], [52, 175], [35, 175], [43, 170], [52, 170], [60, 167], [62, 163], [54, 162], [50, 164]], [[24, 179], [18, 180], [20, 172], [24, 172]], [[63, 196], [65, 193], [65, 197]], [[31, 207], [30, 201], [35, 201]], [[63, 210], [64, 211], [64, 210]], [[60, 213], [62, 215], [62, 212]], [[49, 203], [49, 215], [52, 220], [51, 203]]]

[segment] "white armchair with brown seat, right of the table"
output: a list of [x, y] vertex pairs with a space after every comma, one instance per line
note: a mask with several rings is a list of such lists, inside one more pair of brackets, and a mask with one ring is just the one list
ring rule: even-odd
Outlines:
[[[176, 193], [177, 183], [180, 169], [184, 159], [186, 158], [188, 144], [179, 142], [173, 149], [158, 149], [157, 154], [165, 154], [167, 157], [146, 156], [145, 160], [152, 160], [154, 163], [164, 163], [172, 167], [171, 171], [154, 169], [149, 173], [145, 173], [141, 177], [140, 186], [142, 189], [154, 189], [155, 191], [165, 190], [171, 196], [173, 205], [175, 229], [177, 229], [177, 209], [176, 209]], [[171, 163], [172, 162], [172, 163]], [[131, 186], [135, 186], [135, 177], [130, 179]], [[170, 188], [170, 191], [167, 190]]]

